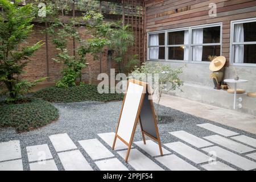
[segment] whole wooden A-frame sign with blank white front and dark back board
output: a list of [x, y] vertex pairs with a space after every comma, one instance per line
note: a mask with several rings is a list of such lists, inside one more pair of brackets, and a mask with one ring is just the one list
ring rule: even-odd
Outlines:
[[128, 146], [125, 162], [129, 158], [138, 122], [141, 125], [144, 144], [146, 144], [144, 135], [147, 135], [158, 142], [160, 155], [163, 155], [155, 109], [152, 99], [149, 99], [151, 93], [148, 92], [148, 89], [149, 86], [146, 82], [129, 80], [127, 83], [112, 146], [114, 150], [117, 138]]

